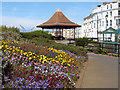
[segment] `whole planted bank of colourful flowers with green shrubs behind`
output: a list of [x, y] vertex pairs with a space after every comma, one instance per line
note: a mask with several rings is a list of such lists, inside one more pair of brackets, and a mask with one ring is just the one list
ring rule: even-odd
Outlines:
[[55, 43], [39, 30], [2, 35], [3, 88], [73, 88], [88, 59], [83, 47]]

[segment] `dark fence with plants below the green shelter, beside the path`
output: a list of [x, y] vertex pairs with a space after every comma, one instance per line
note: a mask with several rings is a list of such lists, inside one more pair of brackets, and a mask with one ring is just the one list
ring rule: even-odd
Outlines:
[[111, 55], [116, 55], [120, 57], [120, 43], [112, 44], [112, 43], [102, 43], [102, 42], [90, 42], [87, 46], [88, 51], [97, 53], [102, 53], [101, 50], [107, 50], [107, 52]]

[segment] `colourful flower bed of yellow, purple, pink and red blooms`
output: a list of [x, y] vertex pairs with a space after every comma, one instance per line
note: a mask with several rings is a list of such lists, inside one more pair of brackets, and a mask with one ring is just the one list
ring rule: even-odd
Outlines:
[[69, 51], [2, 41], [3, 88], [74, 88], [87, 59]]

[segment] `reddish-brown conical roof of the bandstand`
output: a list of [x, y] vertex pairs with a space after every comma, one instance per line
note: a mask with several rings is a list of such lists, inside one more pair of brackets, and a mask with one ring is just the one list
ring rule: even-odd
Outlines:
[[37, 27], [51, 29], [51, 28], [73, 28], [81, 26], [70, 21], [58, 8], [54, 15], [48, 21], [38, 25]]

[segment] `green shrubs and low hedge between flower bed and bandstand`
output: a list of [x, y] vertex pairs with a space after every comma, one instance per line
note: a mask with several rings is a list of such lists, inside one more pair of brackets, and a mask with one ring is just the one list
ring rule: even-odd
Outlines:
[[[65, 45], [56, 43], [54, 40], [51, 40], [52, 35], [41, 30], [21, 33], [23, 38], [30, 40], [30, 42], [35, 43], [36, 45], [42, 45], [47, 47], [52, 47], [58, 50], [70, 51], [77, 55], [87, 56], [87, 50], [80, 46]], [[86, 40], [86, 38], [84, 38]]]

